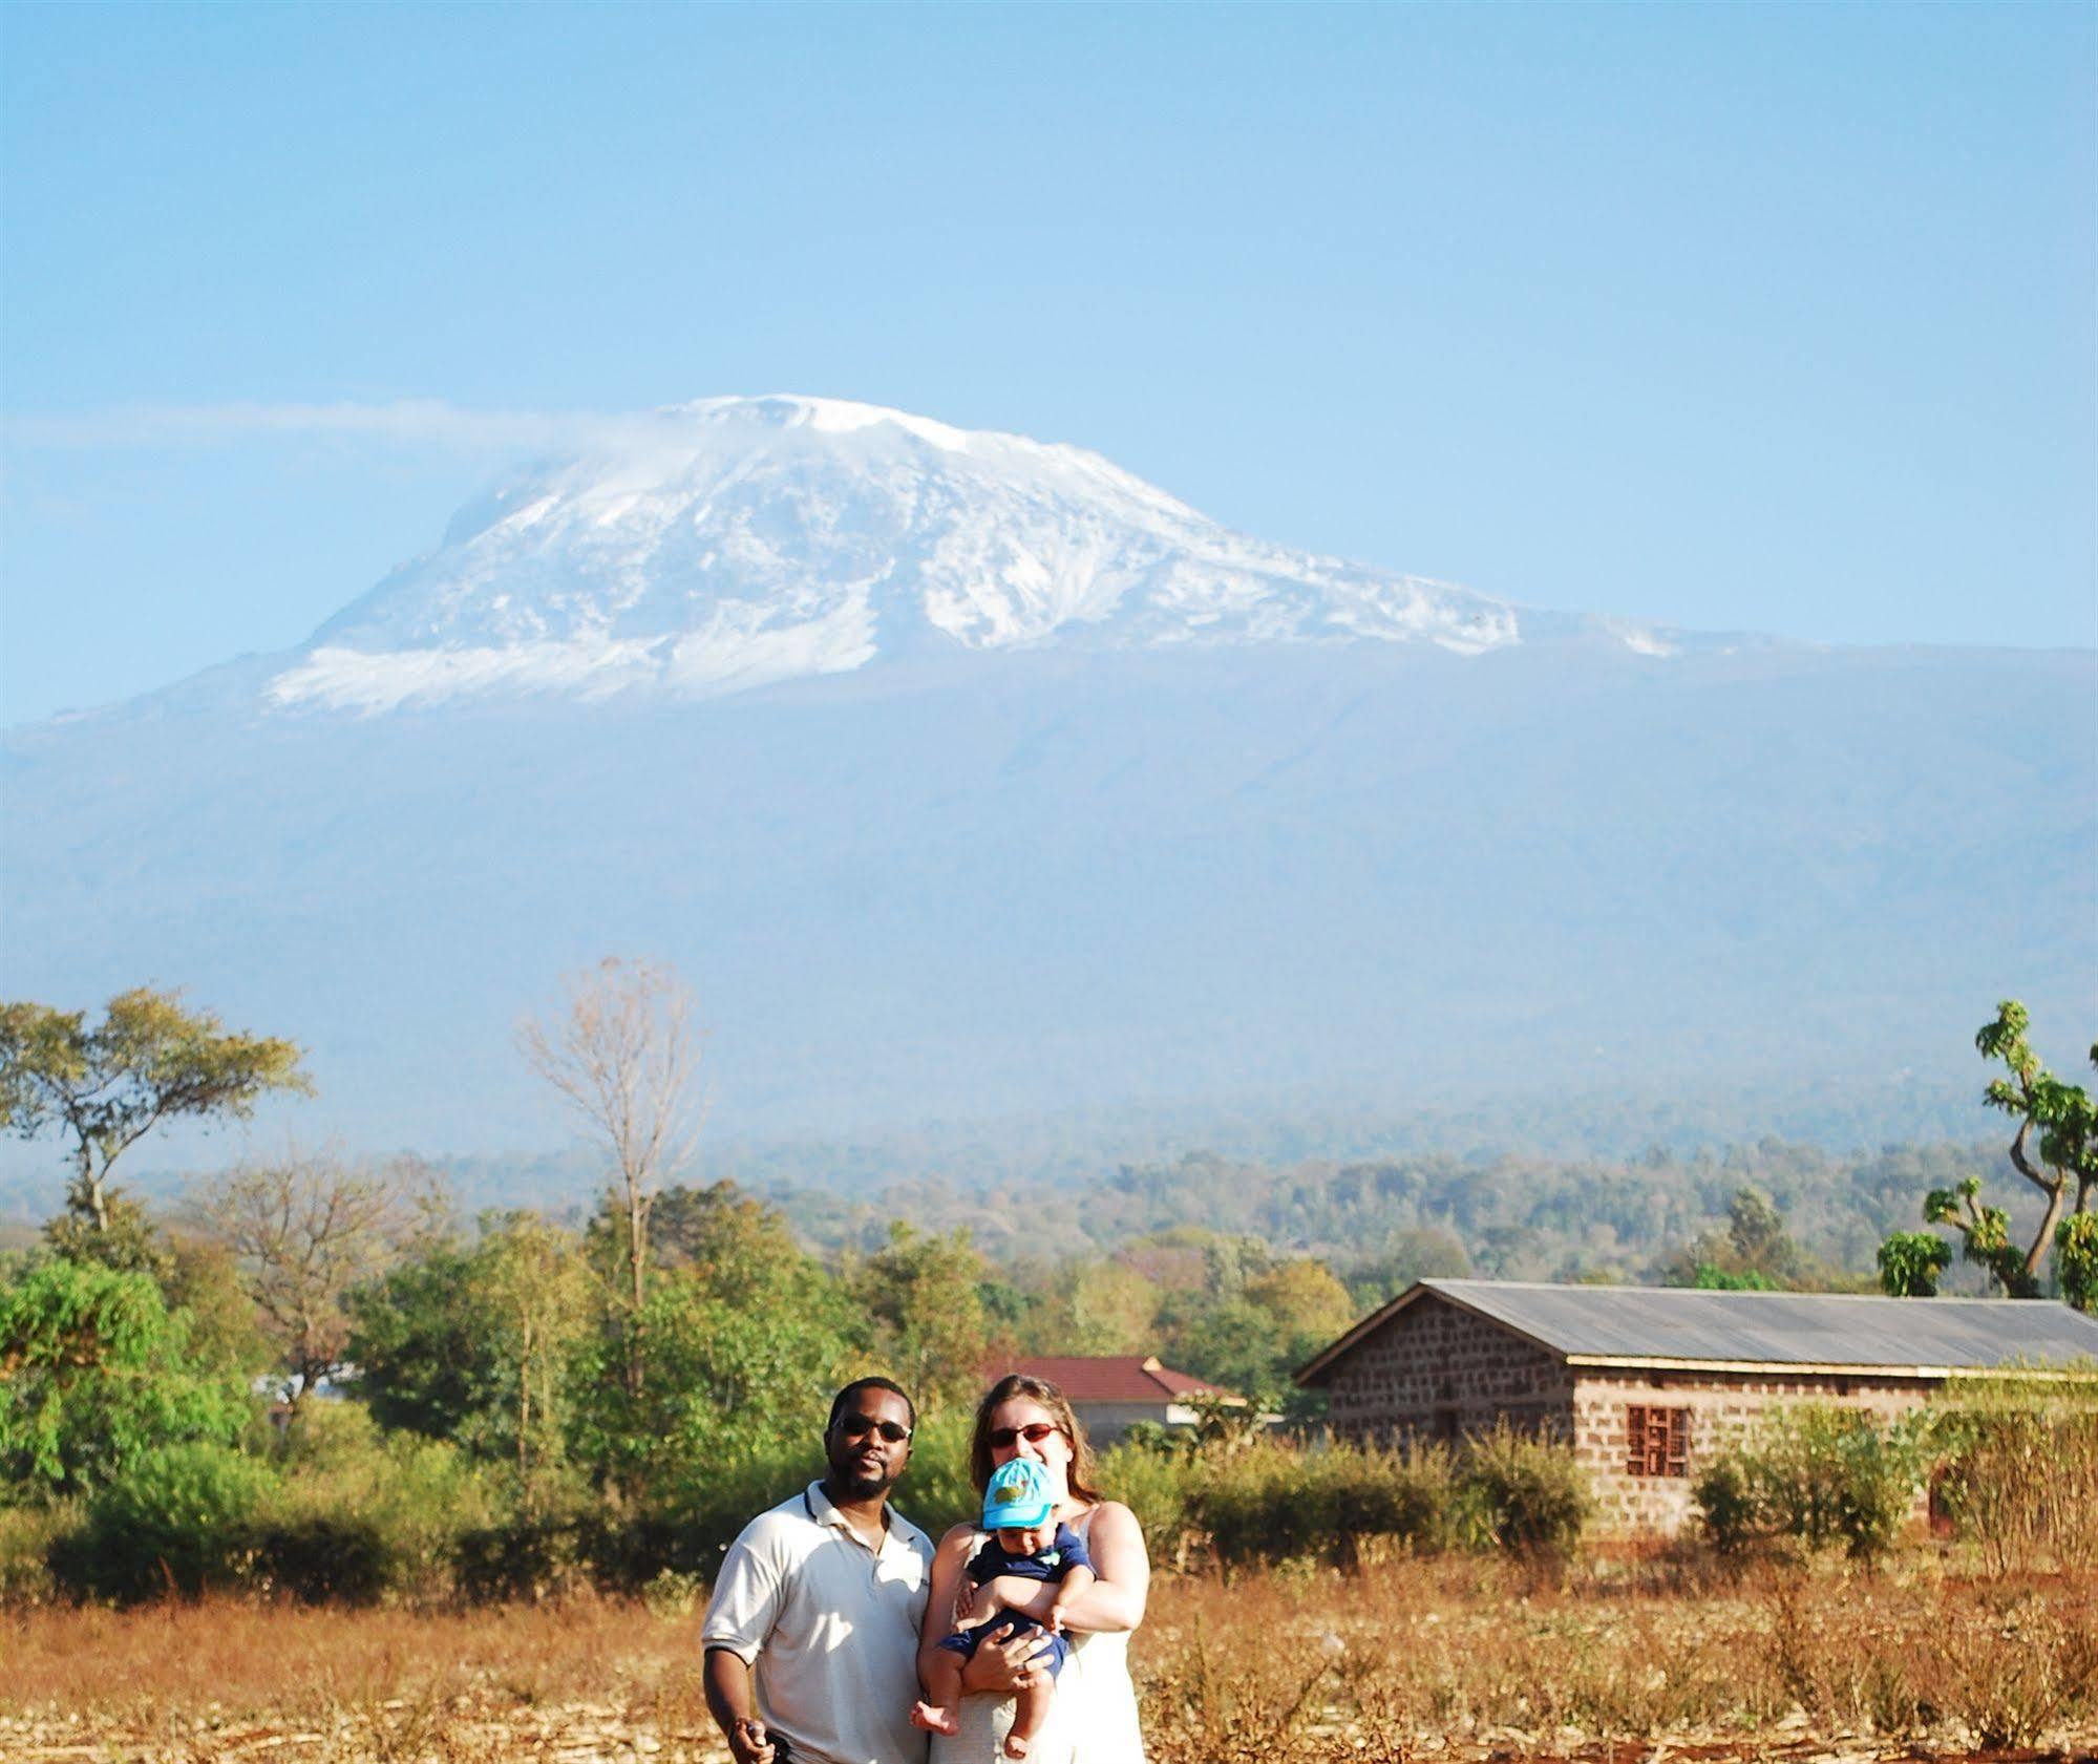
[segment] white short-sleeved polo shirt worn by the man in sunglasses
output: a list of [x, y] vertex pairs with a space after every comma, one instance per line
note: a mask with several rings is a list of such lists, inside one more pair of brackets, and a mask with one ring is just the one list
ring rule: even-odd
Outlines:
[[757, 1714], [808, 1764], [925, 1764], [911, 1726], [932, 1542], [887, 1508], [871, 1550], [822, 1483], [728, 1546], [701, 1642], [755, 1668]]

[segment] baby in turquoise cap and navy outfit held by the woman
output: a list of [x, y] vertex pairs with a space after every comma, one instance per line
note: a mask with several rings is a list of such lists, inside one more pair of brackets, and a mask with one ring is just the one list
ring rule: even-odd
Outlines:
[[[1064, 1613], [1093, 1584], [1093, 1558], [1076, 1531], [1055, 1523], [1049, 1472], [1030, 1458], [1013, 1458], [990, 1472], [984, 1529], [990, 1537], [969, 1558], [969, 1586], [957, 1600], [955, 1632], [940, 1638], [940, 1653], [925, 1668], [925, 1699], [911, 1712], [911, 1720], [929, 1733], [955, 1733], [961, 1724], [961, 1668], [984, 1634], [997, 1623], [1011, 1623], [1015, 1636], [1047, 1630], [1049, 1647], [1034, 1657], [1034, 1665], [1047, 1665], [1051, 1682], [1015, 1695], [1013, 1730], [1005, 1737], [1005, 1756], [1026, 1758], [1034, 1735], [1049, 1720], [1055, 1676], [1070, 1659]], [[1055, 1586], [1047, 1623], [1007, 1609], [1009, 1600], [1032, 1594], [1028, 1582]]]

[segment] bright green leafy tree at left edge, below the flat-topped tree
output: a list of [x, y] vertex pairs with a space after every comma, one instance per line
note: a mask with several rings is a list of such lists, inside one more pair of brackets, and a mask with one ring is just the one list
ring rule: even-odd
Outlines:
[[231, 1445], [256, 1407], [197, 1363], [151, 1277], [94, 1263], [0, 1288], [0, 1481], [27, 1498], [94, 1491], [164, 1445]]

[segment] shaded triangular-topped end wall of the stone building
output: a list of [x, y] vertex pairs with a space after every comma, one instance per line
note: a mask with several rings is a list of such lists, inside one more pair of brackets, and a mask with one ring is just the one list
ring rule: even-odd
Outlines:
[[1574, 1380], [1559, 1355], [1433, 1292], [1332, 1365], [1328, 1424], [1343, 1439], [1456, 1439], [1498, 1420], [1567, 1437]]

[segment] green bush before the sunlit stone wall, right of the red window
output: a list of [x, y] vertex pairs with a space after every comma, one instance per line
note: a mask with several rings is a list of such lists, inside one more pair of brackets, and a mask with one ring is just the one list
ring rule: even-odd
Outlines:
[[1769, 1416], [1714, 1456], [1691, 1487], [1712, 1544], [1729, 1554], [1777, 1544], [1878, 1561], [1913, 1510], [1928, 1464], [1924, 1416], [1882, 1422], [1800, 1405]]

